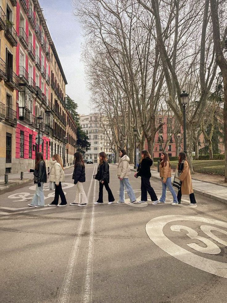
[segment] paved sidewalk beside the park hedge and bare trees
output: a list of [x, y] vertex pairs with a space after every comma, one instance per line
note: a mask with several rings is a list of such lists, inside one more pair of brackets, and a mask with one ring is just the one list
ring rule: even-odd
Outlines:
[[[116, 165], [118, 165], [116, 163]], [[136, 171], [133, 167], [134, 165], [130, 164], [131, 170]], [[174, 177], [174, 173], [171, 173], [172, 181]], [[157, 168], [155, 170], [151, 169], [151, 176], [152, 178], [159, 179], [159, 173]], [[219, 202], [224, 202], [227, 204], [227, 186], [226, 185], [219, 185], [218, 183], [210, 182], [210, 181], [201, 181], [198, 179], [193, 179], [192, 177], [192, 186], [194, 193], [201, 194], [203, 196], [212, 198], [213, 200], [217, 200]]]

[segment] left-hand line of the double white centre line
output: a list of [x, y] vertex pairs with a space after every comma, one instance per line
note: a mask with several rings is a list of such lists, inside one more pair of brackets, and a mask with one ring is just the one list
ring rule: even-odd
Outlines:
[[[96, 170], [96, 165], [94, 167], [92, 176], [94, 175], [95, 170]], [[89, 186], [89, 190], [88, 190], [88, 195], [87, 195], [88, 200], [90, 198], [90, 193], [91, 193], [93, 180], [94, 179], [92, 177], [91, 183], [90, 183], [90, 186]], [[82, 216], [81, 216], [80, 224], [79, 224], [78, 229], [77, 229], [77, 233], [76, 233], [77, 236], [75, 237], [74, 242], [73, 242], [71, 254], [70, 254], [70, 257], [69, 257], [69, 261], [68, 261], [68, 266], [67, 266], [65, 276], [64, 276], [64, 281], [63, 281], [61, 291], [60, 291], [60, 295], [59, 295], [59, 298], [58, 298], [58, 303], [68, 303], [68, 301], [69, 301], [70, 290], [71, 290], [71, 287], [72, 287], [72, 279], [73, 279], [73, 276], [74, 276], [76, 261], [77, 261], [79, 248], [80, 248], [80, 241], [81, 241], [81, 238], [82, 238], [80, 235], [82, 234], [82, 231], [83, 231], [86, 212], [87, 212], [87, 207], [85, 206], [85, 208], [83, 210], [83, 213], [82, 213]]]

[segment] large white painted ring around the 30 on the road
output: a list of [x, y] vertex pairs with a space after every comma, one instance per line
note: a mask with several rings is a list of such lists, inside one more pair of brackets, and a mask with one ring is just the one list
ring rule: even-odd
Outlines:
[[[162, 250], [164, 250], [167, 254], [171, 255], [172, 257], [186, 264], [189, 264], [193, 267], [196, 267], [200, 270], [209, 272], [213, 275], [227, 278], [227, 263], [215, 261], [212, 259], [208, 259], [196, 255], [176, 245], [163, 233], [163, 228], [167, 223], [174, 221], [181, 221], [181, 220], [203, 222], [206, 224], [221, 226], [227, 229], [227, 223], [223, 221], [218, 221], [204, 217], [196, 217], [196, 216], [170, 215], [170, 216], [157, 217], [149, 221], [146, 225], [146, 232], [149, 238], [157, 246], [159, 246]], [[201, 238], [202, 237], [200, 237], [200, 241]], [[192, 245], [193, 244], [195, 243], [192, 243]], [[195, 248], [195, 246], [193, 248]]]

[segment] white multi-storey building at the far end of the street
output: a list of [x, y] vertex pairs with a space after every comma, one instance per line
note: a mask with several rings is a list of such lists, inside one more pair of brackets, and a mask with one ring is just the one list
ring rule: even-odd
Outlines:
[[85, 153], [85, 159], [92, 159], [93, 162], [97, 163], [99, 161], [99, 153], [105, 152], [107, 158], [113, 160], [113, 151], [110, 143], [112, 141], [111, 129], [105, 126], [105, 131], [97, 114], [80, 116], [80, 124], [82, 130], [89, 137], [89, 143], [91, 144], [89, 151]]

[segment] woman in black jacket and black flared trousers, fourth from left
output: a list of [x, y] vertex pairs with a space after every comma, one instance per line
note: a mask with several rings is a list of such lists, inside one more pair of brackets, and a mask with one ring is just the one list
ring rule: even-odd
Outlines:
[[109, 164], [106, 158], [106, 154], [101, 152], [99, 154], [99, 166], [97, 174], [95, 175], [95, 179], [99, 180], [99, 193], [98, 193], [98, 200], [94, 204], [101, 204], [103, 203], [103, 186], [108, 192], [108, 200], [109, 202], [114, 202], [114, 196], [112, 194], [111, 189], [109, 188]]

